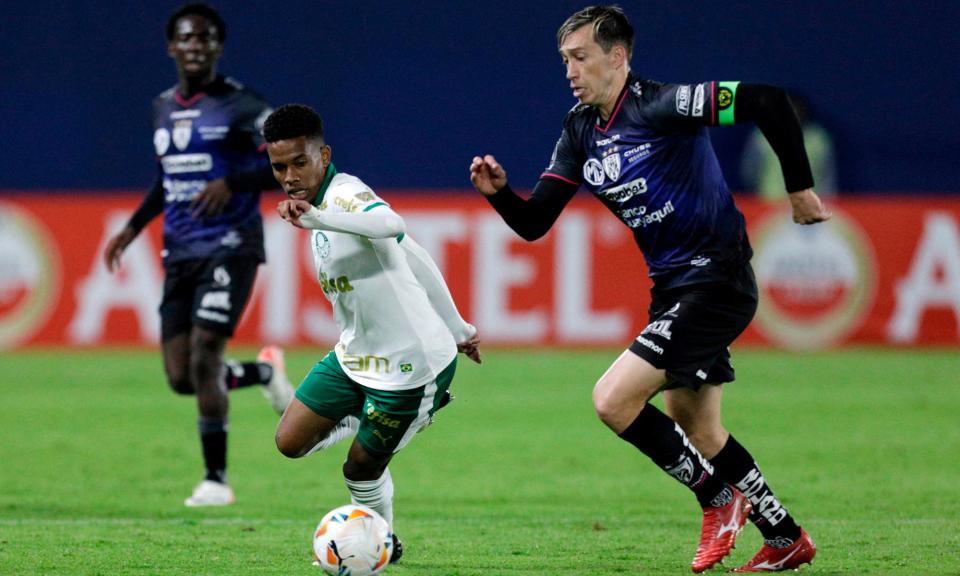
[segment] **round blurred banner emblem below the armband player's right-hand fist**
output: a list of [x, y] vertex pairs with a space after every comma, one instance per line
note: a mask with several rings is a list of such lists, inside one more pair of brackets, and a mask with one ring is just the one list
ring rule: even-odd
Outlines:
[[843, 341], [866, 318], [876, 291], [876, 258], [851, 218], [831, 207], [822, 224], [794, 224], [771, 213], [753, 234], [760, 290], [755, 326], [786, 348]]

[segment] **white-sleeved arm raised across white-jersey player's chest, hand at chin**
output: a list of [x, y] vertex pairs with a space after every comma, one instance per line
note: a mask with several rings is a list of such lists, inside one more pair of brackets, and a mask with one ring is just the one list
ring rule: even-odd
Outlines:
[[406, 224], [386, 204], [367, 212], [321, 212], [306, 200], [281, 200], [277, 213], [287, 222], [308, 230], [330, 230], [365, 238], [396, 238]]

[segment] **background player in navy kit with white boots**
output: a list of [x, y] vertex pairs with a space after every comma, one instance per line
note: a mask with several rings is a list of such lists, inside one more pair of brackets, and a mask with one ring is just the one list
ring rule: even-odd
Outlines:
[[206, 466], [185, 504], [218, 506], [234, 501], [226, 477], [227, 391], [262, 384], [281, 413], [293, 396], [279, 348], [264, 348], [257, 362], [223, 356], [264, 261], [260, 191], [276, 182], [260, 129], [271, 109], [217, 74], [226, 25], [214, 9], [183, 6], [166, 35], [179, 82], [153, 103], [157, 179], [104, 257], [111, 271], [118, 267], [124, 249], [163, 214], [164, 368], [175, 392], [197, 397]]

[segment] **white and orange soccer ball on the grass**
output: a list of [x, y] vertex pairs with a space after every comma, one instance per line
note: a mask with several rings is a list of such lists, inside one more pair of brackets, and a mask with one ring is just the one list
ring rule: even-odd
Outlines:
[[316, 565], [335, 576], [371, 576], [386, 568], [393, 534], [383, 516], [360, 504], [334, 508], [313, 533]]

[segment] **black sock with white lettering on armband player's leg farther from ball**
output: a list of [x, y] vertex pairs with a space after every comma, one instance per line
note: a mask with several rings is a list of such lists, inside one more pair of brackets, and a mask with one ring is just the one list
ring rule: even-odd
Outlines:
[[800, 527], [773, 495], [753, 456], [733, 436], [710, 463], [718, 476], [750, 499], [753, 504], [750, 521], [756, 524], [764, 540], [789, 546], [800, 537]]

